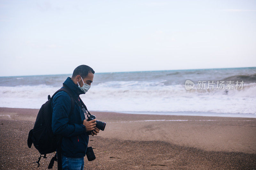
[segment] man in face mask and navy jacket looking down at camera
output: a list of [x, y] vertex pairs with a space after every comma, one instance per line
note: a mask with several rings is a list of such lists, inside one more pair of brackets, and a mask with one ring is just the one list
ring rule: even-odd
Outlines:
[[[64, 84], [78, 98], [91, 87], [94, 70], [87, 65], [76, 67], [72, 78], [68, 77]], [[62, 87], [65, 88], [65, 87]], [[52, 99], [52, 131], [62, 137], [62, 169], [84, 169], [84, 156], [89, 141], [89, 133], [94, 136], [99, 133], [96, 119], [87, 121], [79, 105], [75, 102], [71, 110], [71, 99], [68, 93], [60, 91]], [[57, 150], [58, 154], [58, 150]]]

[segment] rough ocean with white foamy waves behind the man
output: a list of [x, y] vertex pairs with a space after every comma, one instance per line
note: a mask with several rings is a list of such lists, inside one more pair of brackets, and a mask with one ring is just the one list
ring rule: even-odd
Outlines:
[[[71, 76], [0, 77], [0, 107], [40, 108]], [[95, 73], [80, 97], [89, 111], [256, 118], [256, 67]]]

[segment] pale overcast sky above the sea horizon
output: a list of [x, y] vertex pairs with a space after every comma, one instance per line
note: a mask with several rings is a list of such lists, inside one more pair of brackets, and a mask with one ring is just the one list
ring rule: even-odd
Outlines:
[[0, 0], [0, 76], [252, 67], [255, 30], [255, 0]]

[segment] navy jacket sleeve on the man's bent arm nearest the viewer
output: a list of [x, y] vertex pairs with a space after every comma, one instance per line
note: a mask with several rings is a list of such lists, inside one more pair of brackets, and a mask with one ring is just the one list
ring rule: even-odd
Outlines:
[[52, 99], [52, 132], [54, 135], [72, 137], [86, 132], [83, 124], [68, 124], [71, 100], [66, 92], [58, 92]]

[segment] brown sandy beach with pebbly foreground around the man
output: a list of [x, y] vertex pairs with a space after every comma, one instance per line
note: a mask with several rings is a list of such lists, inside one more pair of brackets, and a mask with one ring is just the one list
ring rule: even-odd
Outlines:
[[[0, 108], [0, 169], [47, 169], [27, 146], [38, 109]], [[256, 169], [256, 119], [92, 112], [107, 122], [90, 137], [84, 169]], [[57, 169], [55, 162], [53, 169]]]

